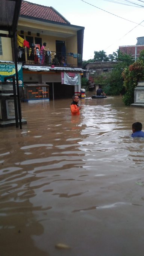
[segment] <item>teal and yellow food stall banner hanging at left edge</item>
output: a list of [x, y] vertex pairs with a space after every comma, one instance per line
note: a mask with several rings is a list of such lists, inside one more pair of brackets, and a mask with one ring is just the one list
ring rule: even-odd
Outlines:
[[[22, 64], [18, 63], [18, 85], [23, 87], [23, 70]], [[13, 63], [0, 63], [0, 82], [4, 82], [6, 76], [15, 76], [15, 64]], [[7, 79], [7, 82], [12, 82], [12, 79]], [[16, 76], [15, 76], [15, 83], [16, 83]]]

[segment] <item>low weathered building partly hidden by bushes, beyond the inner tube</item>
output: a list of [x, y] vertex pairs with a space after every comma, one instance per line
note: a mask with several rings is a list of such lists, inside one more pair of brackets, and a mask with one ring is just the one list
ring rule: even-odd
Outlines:
[[100, 75], [103, 75], [103, 78], [105, 78], [105, 74], [111, 72], [116, 64], [117, 62], [115, 61], [98, 61], [86, 64], [85, 69], [89, 70], [89, 73], [85, 73], [85, 77], [89, 80], [89, 89], [94, 90], [96, 86], [94, 78], [97, 78]]

